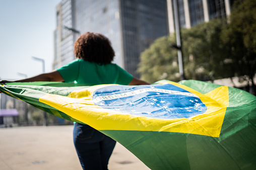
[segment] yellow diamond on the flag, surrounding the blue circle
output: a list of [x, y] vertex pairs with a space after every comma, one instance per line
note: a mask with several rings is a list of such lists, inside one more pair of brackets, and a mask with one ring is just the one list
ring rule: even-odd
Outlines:
[[[193, 134], [219, 137], [221, 126], [225, 116], [226, 107], [228, 107], [228, 87], [221, 86], [207, 94], [202, 94], [193, 89], [190, 89], [189, 87], [180, 85], [178, 83], [167, 82], [164, 84], [171, 84], [189, 93], [185, 94], [185, 92], [182, 92], [181, 94], [181, 92], [174, 93], [172, 91], [170, 94], [168, 94], [167, 93], [168, 91], [166, 90], [165, 91], [163, 91], [163, 89], [156, 90], [157, 87], [151, 86], [150, 88], [146, 88], [146, 86], [144, 87], [141, 86], [141, 89], [131, 90], [129, 93], [121, 91], [118, 94], [112, 95], [112, 94], [109, 94], [109, 92], [107, 92], [108, 95], [104, 95], [104, 97], [102, 98], [103, 99], [105, 98], [106, 100], [110, 101], [115, 97], [114, 98], [115, 103], [119, 102], [118, 103], [119, 105], [124, 106], [125, 104], [127, 105], [127, 101], [132, 101], [132, 98], [137, 97], [139, 95], [139, 92], [155, 93], [156, 95], [158, 95], [157, 96], [158, 98], [159, 97], [161, 98], [161, 95], [165, 96], [165, 98], [166, 98], [166, 95], [167, 95], [167, 98], [169, 98], [168, 95], [170, 96], [174, 95], [174, 97], [181, 96], [182, 98], [196, 96], [198, 97], [198, 99], [195, 99], [195, 100], [201, 100], [202, 103], [205, 104], [207, 108], [206, 111], [204, 113], [197, 114], [191, 117], [157, 118], [154, 116], [152, 117], [150, 114], [149, 115], [151, 117], [149, 117], [149, 115], [146, 115], [146, 114], [145, 116], [144, 115], [138, 116], [136, 114], [129, 113], [129, 111], [136, 112], [136, 109], [133, 109], [133, 108], [136, 108], [136, 106], [131, 104], [133, 102], [130, 102], [130, 105], [126, 106], [125, 109], [126, 111], [128, 110], [128, 112], [125, 112], [125, 111], [120, 112], [121, 109], [124, 110], [122, 107], [119, 110], [118, 109], [114, 110], [114, 109], [109, 109], [104, 104], [99, 105], [94, 103], [95, 101], [93, 100], [93, 96], [95, 91], [97, 90], [101, 91], [102, 88], [109, 89], [111, 87], [110, 85], [97, 85], [97, 86], [92, 86], [86, 89], [74, 91], [67, 97], [59, 96], [55, 94], [46, 94], [43, 97], [41, 97], [39, 101], [47, 105], [50, 105], [70, 115], [71, 117], [77, 120], [80, 120], [86, 124], [89, 124], [90, 126], [98, 130], [166, 131], [166, 132], [193, 133]], [[161, 93], [161, 94], [159, 95], [157, 93]], [[104, 94], [106, 94], [106, 92], [104, 92]], [[130, 98], [130, 100], [127, 100], [126, 98]], [[190, 99], [190, 101], [194, 101], [194, 100]], [[160, 103], [165, 103], [165, 101], [161, 100]], [[157, 105], [155, 107], [157, 107]], [[161, 108], [161, 110], [163, 110], [166, 107], [167, 106], [163, 105], [163, 108]], [[184, 109], [189, 107], [183, 106]], [[161, 112], [161, 110], [159, 112]], [[169, 110], [169, 112], [171, 111], [172, 110]]]

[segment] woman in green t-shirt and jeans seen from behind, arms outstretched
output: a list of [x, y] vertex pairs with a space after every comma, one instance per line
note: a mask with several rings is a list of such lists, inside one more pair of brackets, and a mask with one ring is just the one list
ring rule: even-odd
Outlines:
[[[102, 34], [87, 32], [74, 45], [77, 57], [71, 63], [49, 73], [14, 82], [59, 81], [86, 85], [120, 84], [145, 85], [116, 64], [111, 63], [114, 51]], [[0, 81], [7, 83], [10, 81]], [[83, 169], [107, 169], [115, 141], [86, 124], [74, 124], [74, 144]]]

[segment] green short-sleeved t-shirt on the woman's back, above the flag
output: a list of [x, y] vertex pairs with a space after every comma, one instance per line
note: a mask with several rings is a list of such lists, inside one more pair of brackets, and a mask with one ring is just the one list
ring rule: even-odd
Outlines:
[[129, 84], [133, 76], [120, 68], [118, 65], [110, 63], [99, 65], [82, 59], [76, 59], [65, 66], [57, 69], [65, 82], [75, 82], [86, 85], [98, 84]]

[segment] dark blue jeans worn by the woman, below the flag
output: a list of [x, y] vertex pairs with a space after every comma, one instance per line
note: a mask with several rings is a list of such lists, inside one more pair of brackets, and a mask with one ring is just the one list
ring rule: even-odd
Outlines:
[[74, 144], [83, 169], [108, 169], [116, 141], [86, 124], [75, 123]]

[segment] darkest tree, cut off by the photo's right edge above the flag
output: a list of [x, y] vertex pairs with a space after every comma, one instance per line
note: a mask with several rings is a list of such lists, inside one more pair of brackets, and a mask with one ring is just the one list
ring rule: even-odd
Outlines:
[[231, 62], [228, 67], [241, 81], [249, 77], [254, 92], [256, 74], [256, 1], [236, 1], [230, 15], [230, 24], [222, 31], [222, 41]]

